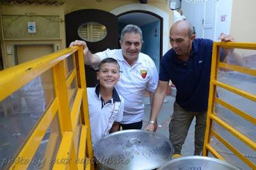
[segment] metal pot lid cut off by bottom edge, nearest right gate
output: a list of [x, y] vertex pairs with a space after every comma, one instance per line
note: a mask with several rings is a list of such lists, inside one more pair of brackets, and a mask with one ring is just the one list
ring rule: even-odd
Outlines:
[[179, 157], [170, 160], [157, 168], [157, 170], [167, 169], [207, 169], [207, 170], [239, 170], [238, 167], [228, 164], [218, 158], [189, 156]]

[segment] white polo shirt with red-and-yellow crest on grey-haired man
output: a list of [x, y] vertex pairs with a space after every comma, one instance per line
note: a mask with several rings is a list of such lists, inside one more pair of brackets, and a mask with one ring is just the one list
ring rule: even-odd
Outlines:
[[100, 59], [115, 58], [120, 65], [120, 79], [116, 84], [118, 94], [125, 100], [123, 124], [143, 120], [145, 89], [154, 93], [157, 88], [158, 73], [154, 61], [140, 52], [136, 63], [130, 66], [125, 61], [122, 49], [97, 52]]

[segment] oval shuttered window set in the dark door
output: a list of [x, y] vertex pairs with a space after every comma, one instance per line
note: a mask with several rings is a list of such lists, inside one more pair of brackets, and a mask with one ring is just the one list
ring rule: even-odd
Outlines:
[[77, 34], [86, 42], [99, 42], [107, 36], [108, 31], [106, 26], [98, 22], [86, 22], [78, 27]]

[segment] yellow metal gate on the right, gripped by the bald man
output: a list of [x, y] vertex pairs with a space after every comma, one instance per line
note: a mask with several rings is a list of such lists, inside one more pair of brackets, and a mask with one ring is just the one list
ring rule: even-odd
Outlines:
[[[228, 49], [227, 57], [237, 61], [220, 62], [220, 48]], [[243, 52], [236, 52], [244, 49], [253, 51], [253, 55], [244, 57]], [[212, 52], [203, 155], [241, 169], [256, 169], [255, 50], [256, 43], [214, 42]]]

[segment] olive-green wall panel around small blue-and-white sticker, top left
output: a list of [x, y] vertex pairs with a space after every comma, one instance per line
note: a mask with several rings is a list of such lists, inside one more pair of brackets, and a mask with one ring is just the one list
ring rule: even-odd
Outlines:
[[[2, 22], [5, 40], [60, 38], [59, 16], [2, 15]], [[35, 33], [29, 33], [28, 22], [35, 22]]]

